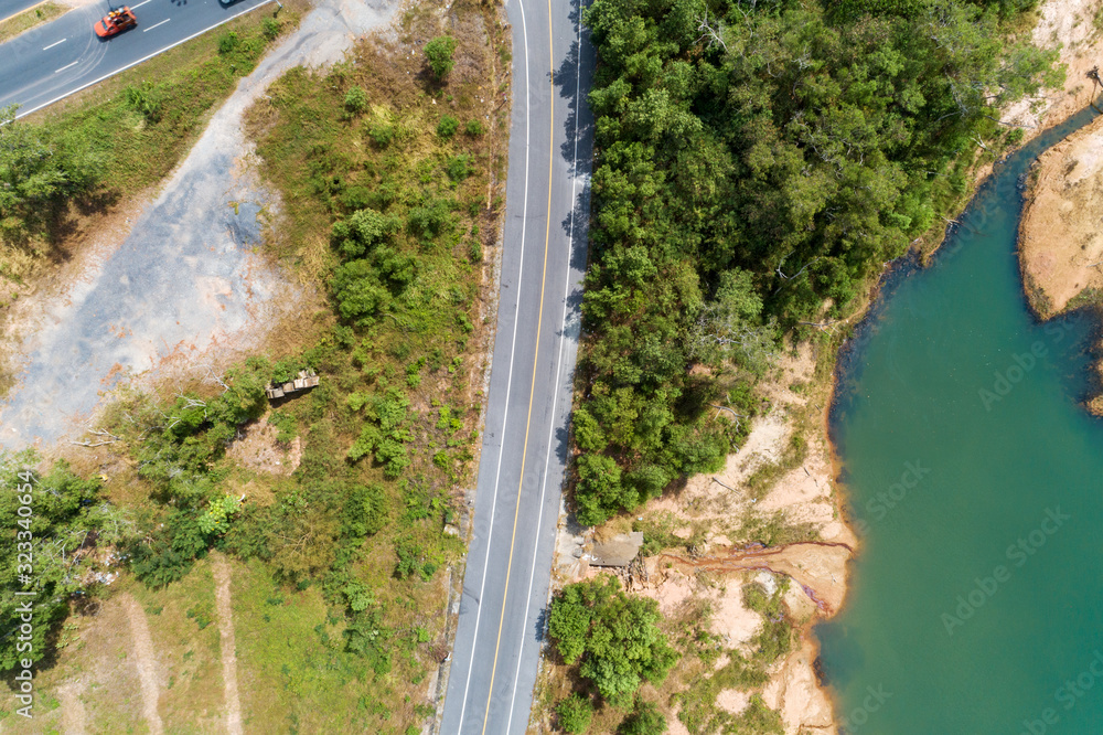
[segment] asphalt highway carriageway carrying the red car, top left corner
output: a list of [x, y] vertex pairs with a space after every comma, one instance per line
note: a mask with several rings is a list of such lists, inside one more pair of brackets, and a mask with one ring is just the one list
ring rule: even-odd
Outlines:
[[268, 2], [137, 0], [137, 28], [107, 40], [92, 30], [106, 0], [72, 10], [0, 44], [0, 107], [19, 104], [19, 116], [30, 115]]

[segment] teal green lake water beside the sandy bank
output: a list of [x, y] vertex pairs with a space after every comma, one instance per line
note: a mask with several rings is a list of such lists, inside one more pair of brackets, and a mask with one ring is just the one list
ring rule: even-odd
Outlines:
[[832, 434], [863, 547], [816, 635], [850, 735], [1103, 733], [1095, 327], [1038, 324], [1015, 255], [1021, 177], [1089, 119], [998, 166], [844, 356]]

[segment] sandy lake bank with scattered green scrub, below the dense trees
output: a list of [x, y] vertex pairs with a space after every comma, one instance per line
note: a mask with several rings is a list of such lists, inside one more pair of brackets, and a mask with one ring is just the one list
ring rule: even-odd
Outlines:
[[[759, 732], [762, 707], [777, 713], [786, 734], [836, 732], [815, 670], [812, 628], [844, 604], [857, 546], [839, 512], [826, 432], [834, 355], [846, 329], [839, 322], [786, 347], [756, 386], [758, 415], [740, 418], [751, 424], [747, 440], [720, 471], [694, 476], [593, 533], [644, 533], [641, 557], [612, 571], [628, 589], [658, 603], [667, 636], [682, 650], [674, 671], [649, 695], [667, 705], [672, 735], [698, 732], [706, 722]], [[589, 566], [589, 542], [583, 533], [561, 533], [557, 585], [610, 571]], [[777, 606], [757, 606], [758, 590], [778, 595]], [[687, 639], [693, 628], [699, 632]], [[709, 637], [706, 648], [719, 656], [716, 661], [699, 650], [700, 636]], [[770, 639], [783, 643], [764, 646]], [[725, 673], [731, 661], [760, 673], [732, 681]], [[531, 732], [553, 729], [552, 709], [568, 690], [564, 667], [546, 660]], [[603, 716], [609, 722], [596, 721], [593, 732], [615, 726], [615, 713], [598, 714]]]

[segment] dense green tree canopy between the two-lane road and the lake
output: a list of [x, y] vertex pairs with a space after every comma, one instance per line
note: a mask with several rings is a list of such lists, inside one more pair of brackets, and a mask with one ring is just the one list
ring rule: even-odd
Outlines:
[[845, 309], [966, 191], [997, 108], [1061, 81], [1005, 38], [1027, 4], [595, 0], [582, 522], [717, 469], [716, 375]]

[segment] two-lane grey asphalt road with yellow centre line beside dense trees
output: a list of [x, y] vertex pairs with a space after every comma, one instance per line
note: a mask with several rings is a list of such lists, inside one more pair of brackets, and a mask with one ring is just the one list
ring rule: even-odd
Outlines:
[[523, 733], [543, 642], [586, 267], [593, 52], [580, 0], [508, 0], [502, 290], [441, 732]]

